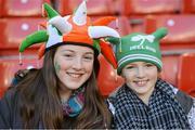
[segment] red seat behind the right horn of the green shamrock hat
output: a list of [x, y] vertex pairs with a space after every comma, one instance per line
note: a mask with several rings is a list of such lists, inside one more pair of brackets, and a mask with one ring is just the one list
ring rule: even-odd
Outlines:
[[195, 49], [195, 15], [150, 15], [145, 31], [151, 34], [158, 27], [167, 27], [168, 35], [161, 41], [161, 49]]

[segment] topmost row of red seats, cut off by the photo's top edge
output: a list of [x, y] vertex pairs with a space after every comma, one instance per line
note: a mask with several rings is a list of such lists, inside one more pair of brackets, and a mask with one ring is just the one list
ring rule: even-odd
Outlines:
[[[62, 14], [72, 13], [82, 0], [0, 0], [0, 16], [41, 16], [43, 2]], [[195, 0], [89, 0], [90, 15], [145, 15], [195, 13]]]

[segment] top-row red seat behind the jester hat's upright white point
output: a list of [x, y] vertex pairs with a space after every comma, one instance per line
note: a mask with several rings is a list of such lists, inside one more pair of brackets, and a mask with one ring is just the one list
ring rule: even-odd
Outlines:
[[[89, 15], [113, 15], [115, 14], [115, 0], [88, 0]], [[72, 14], [82, 0], [55, 0], [55, 8], [61, 14]]]

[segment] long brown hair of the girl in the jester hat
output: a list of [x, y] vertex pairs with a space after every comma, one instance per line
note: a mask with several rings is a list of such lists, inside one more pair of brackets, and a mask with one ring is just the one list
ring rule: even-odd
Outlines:
[[[18, 106], [24, 128], [62, 128], [64, 116], [58, 94], [58, 79], [55, 75], [53, 57], [56, 48], [46, 52], [43, 67], [32, 70], [17, 84]], [[96, 86], [99, 74], [98, 56], [89, 80], [84, 83], [84, 106], [73, 121], [74, 128], [105, 128], [110, 125], [108, 112], [103, 96]], [[40, 127], [40, 126], [39, 126]]]

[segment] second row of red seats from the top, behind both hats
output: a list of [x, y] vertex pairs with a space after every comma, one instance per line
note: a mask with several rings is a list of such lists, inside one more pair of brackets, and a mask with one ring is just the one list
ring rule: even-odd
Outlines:
[[[94, 16], [93, 20], [100, 16]], [[17, 49], [22, 39], [38, 29], [38, 24], [44, 22], [41, 17], [0, 18], [0, 50]], [[133, 25], [127, 16], [119, 16], [118, 22], [108, 26], [117, 29], [121, 36], [133, 32]], [[167, 27], [168, 36], [161, 41], [162, 50], [195, 49], [195, 15], [150, 15], [143, 18], [139, 31], [153, 32], [158, 27]], [[138, 31], [138, 30], [136, 30]]]

